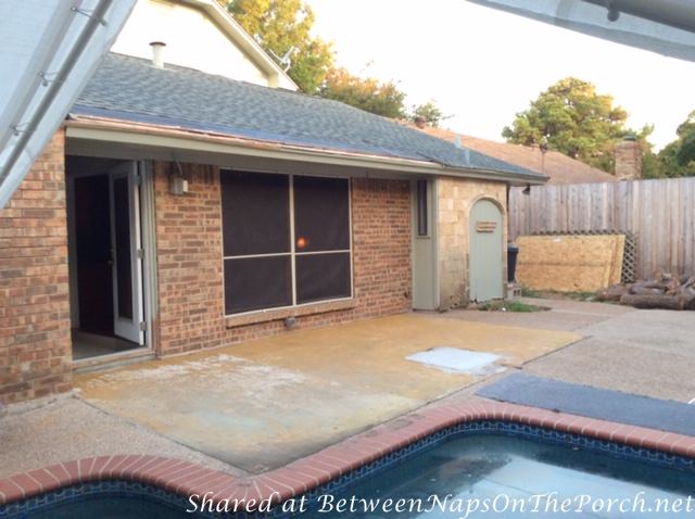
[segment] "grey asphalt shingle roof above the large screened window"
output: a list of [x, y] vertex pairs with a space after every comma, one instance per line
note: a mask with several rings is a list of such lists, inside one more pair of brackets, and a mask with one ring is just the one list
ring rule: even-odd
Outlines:
[[338, 101], [115, 53], [104, 56], [71, 112], [544, 178]]

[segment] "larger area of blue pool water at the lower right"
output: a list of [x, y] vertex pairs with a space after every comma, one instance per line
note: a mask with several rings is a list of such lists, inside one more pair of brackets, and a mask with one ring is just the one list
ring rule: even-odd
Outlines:
[[[543, 497], [549, 493], [557, 494], [552, 498]], [[688, 494], [695, 496], [695, 474], [692, 472], [493, 435], [442, 443], [343, 494], [346, 499], [355, 495], [370, 499], [367, 503], [371, 505], [381, 504], [379, 509], [369, 512], [361, 509], [364, 502], [359, 502], [354, 512], [340, 515], [351, 518], [563, 517], [560, 506], [567, 498], [572, 499], [572, 506], [566, 517], [695, 517], [695, 501], [690, 514], [659, 514], [656, 510], [657, 499], [670, 499], [675, 505], [682, 499], [685, 506]], [[581, 499], [587, 497], [578, 496], [583, 495], [591, 501], [582, 507]], [[428, 504], [431, 507], [434, 503], [432, 496], [440, 498], [439, 505], [428, 512]], [[383, 504], [388, 498], [394, 502], [404, 498], [406, 506], [424, 503], [424, 511], [384, 514]], [[485, 499], [488, 511], [483, 510]], [[516, 512], [511, 508], [514, 499], [518, 503]], [[608, 509], [608, 499], [614, 499], [612, 510]], [[521, 508], [521, 503], [526, 508]], [[623, 511], [619, 509], [620, 503]], [[330, 505], [334, 509], [337, 504], [338, 497], [319, 501], [324, 511], [311, 516], [338, 517], [338, 514], [326, 512]]]

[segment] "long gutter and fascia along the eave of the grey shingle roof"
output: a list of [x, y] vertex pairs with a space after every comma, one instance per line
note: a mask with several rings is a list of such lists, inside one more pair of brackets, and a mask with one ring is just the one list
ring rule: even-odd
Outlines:
[[222, 134], [190, 131], [169, 126], [125, 123], [101, 117], [77, 117], [73, 115], [65, 122], [65, 131], [68, 139], [101, 141], [114, 144], [320, 163], [425, 176], [451, 176], [496, 180], [523, 186], [542, 185], [547, 181], [547, 177], [539, 177], [538, 175], [458, 168], [430, 161], [301, 147]]

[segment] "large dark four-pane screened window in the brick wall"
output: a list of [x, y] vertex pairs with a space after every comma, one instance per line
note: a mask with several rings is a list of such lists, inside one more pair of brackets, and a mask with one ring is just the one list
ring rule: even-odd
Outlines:
[[346, 179], [223, 172], [225, 311], [352, 296]]

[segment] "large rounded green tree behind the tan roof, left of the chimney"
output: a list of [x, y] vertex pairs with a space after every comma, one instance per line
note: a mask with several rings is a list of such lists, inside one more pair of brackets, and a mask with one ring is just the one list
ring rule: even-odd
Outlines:
[[646, 143], [652, 132], [649, 126], [639, 132], [626, 128], [628, 113], [612, 101], [611, 96], [596, 93], [591, 83], [567, 77], [541, 92], [502, 136], [518, 144], [546, 143], [551, 150], [612, 173], [616, 143], [628, 134]]

